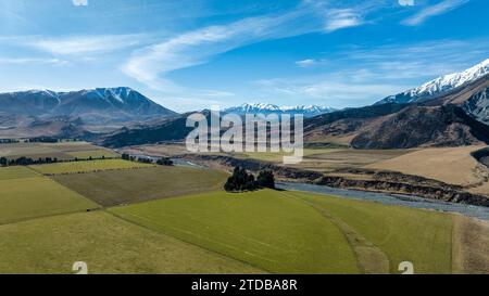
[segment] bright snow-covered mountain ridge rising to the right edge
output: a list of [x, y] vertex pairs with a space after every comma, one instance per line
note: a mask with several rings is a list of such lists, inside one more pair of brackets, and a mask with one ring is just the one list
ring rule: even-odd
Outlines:
[[457, 88], [469, 85], [473, 81], [489, 74], [489, 59], [461, 73], [453, 73], [438, 77], [421, 87], [387, 96], [376, 104], [385, 103], [414, 103], [428, 101]]

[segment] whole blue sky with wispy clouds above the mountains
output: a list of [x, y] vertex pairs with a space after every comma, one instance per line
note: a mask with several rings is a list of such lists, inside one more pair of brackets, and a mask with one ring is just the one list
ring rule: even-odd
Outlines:
[[488, 59], [487, 15], [487, 0], [0, 0], [0, 91], [360, 106]]

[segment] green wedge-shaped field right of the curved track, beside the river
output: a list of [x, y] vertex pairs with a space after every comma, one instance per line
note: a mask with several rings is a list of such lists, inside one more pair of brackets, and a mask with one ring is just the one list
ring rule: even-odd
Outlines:
[[411, 261], [417, 273], [451, 273], [452, 224], [450, 214], [364, 201], [288, 192], [333, 215], [380, 248], [390, 271], [399, 273]]

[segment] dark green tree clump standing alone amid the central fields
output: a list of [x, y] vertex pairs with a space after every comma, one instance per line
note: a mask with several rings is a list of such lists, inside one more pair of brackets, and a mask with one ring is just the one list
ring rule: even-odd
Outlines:
[[238, 166], [224, 184], [224, 190], [228, 192], [254, 191], [260, 188], [275, 189], [275, 177], [271, 170], [260, 171], [255, 180], [252, 173]]

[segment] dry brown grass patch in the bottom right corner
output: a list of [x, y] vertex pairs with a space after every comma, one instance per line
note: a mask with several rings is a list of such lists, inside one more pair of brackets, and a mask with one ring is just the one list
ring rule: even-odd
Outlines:
[[489, 273], [489, 223], [454, 215], [453, 272]]

